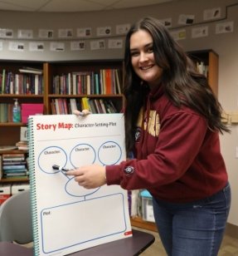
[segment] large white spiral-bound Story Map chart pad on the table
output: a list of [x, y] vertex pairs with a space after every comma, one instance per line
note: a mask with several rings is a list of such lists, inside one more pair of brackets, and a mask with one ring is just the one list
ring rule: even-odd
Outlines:
[[125, 160], [123, 114], [30, 116], [28, 133], [35, 255], [66, 255], [132, 236], [126, 190], [86, 190], [52, 167]]

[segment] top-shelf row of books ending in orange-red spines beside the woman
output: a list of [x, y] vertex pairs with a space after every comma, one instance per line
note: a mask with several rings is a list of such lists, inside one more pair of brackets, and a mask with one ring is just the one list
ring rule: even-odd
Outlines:
[[122, 77], [119, 69], [81, 71], [54, 76], [53, 93], [60, 95], [121, 94]]

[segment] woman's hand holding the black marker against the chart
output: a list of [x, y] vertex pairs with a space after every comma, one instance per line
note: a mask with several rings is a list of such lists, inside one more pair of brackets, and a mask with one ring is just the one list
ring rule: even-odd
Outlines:
[[75, 181], [85, 189], [95, 189], [106, 184], [106, 168], [101, 165], [85, 165], [68, 170], [66, 175], [74, 175]]

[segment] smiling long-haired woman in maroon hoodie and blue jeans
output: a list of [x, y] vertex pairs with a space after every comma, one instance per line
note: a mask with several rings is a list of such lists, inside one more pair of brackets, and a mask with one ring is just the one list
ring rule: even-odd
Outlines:
[[219, 132], [221, 105], [206, 77], [158, 20], [145, 17], [125, 41], [127, 152], [119, 165], [71, 170], [85, 188], [104, 184], [153, 195], [168, 255], [217, 255], [231, 204]]

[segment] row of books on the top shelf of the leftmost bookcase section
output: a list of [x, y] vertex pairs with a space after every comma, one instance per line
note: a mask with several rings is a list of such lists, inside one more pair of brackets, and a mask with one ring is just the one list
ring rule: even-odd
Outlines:
[[14, 73], [2, 70], [0, 73], [0, 94], [29, 94], [43, 93], [43, 76], [34, 73]]

